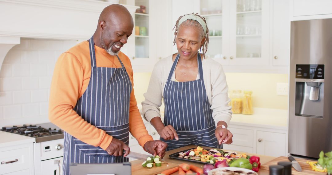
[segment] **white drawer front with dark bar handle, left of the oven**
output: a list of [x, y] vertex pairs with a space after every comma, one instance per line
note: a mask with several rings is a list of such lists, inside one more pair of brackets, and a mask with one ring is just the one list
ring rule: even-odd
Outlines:
[[[1, 151], [1, 150], [0, 150]], [[11, 173], [30, 168], [30, 150], [29, 147], [6, 150], [0, 152], [0, 174]], [[12, 162], [12, 163], [10, 163]], [[29, 174], [29, 173], [28, 173]]]

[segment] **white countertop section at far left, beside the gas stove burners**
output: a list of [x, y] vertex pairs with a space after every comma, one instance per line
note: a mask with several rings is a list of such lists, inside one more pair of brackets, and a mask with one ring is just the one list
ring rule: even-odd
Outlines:
[[0, 131], [0, 147], [34, 143], [36, 139], [33, 137], [27, 137], [19, 134], [8, 133]]

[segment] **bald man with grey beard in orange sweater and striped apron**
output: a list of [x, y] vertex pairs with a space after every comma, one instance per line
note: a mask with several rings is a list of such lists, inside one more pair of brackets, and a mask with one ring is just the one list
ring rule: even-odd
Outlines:
[[128, 10], [110, 5], [102, 11], [93, 36], [56, 62], [49, 120], [65, 131], [64, 175], [70, 174], [70, 163], [128, 161], [129, 132], [150, 154], [165, 155], [167, 144], [153, 141], [145, 129], [134, 96], [131, 63], [120, 51], [132, 30]]

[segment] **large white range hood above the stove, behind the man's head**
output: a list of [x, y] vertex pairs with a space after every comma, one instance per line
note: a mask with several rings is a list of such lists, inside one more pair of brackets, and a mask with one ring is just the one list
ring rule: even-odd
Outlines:
[[[97, 0], [0, 0], [0, 70], [7, 52], [21, 38], [90, 38], [108, 5]], [[131, 14], [138, 8], [124, 6]]]

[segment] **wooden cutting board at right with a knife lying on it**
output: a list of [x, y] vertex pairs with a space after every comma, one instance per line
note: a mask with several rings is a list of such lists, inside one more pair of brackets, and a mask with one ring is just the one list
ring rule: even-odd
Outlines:
[[[311, 169], [311, 166], [307, 163], [307, 161], [312, 162], [313, 160], [300, 159], [300, 158], [295, 158], [295, 160], [300, 164], [300, 166], [302, 168], [302, 172], [298, 172], [292, 167], [291, 174], [294, 174], [294, 175], [312, 175], [312, 174], [313, 175], [315, 175], [315, 174], [316, 175], [326, 175], [326, 173], [314, 171]], [[278, 162], [282, 162], [282, 161], [289, 162], [287, 157], [280, 156], [280, 157], [277, 157], [277, 158], [261, 165], [261, 169], [269, 170], [270, 165], [278, 165]]]

